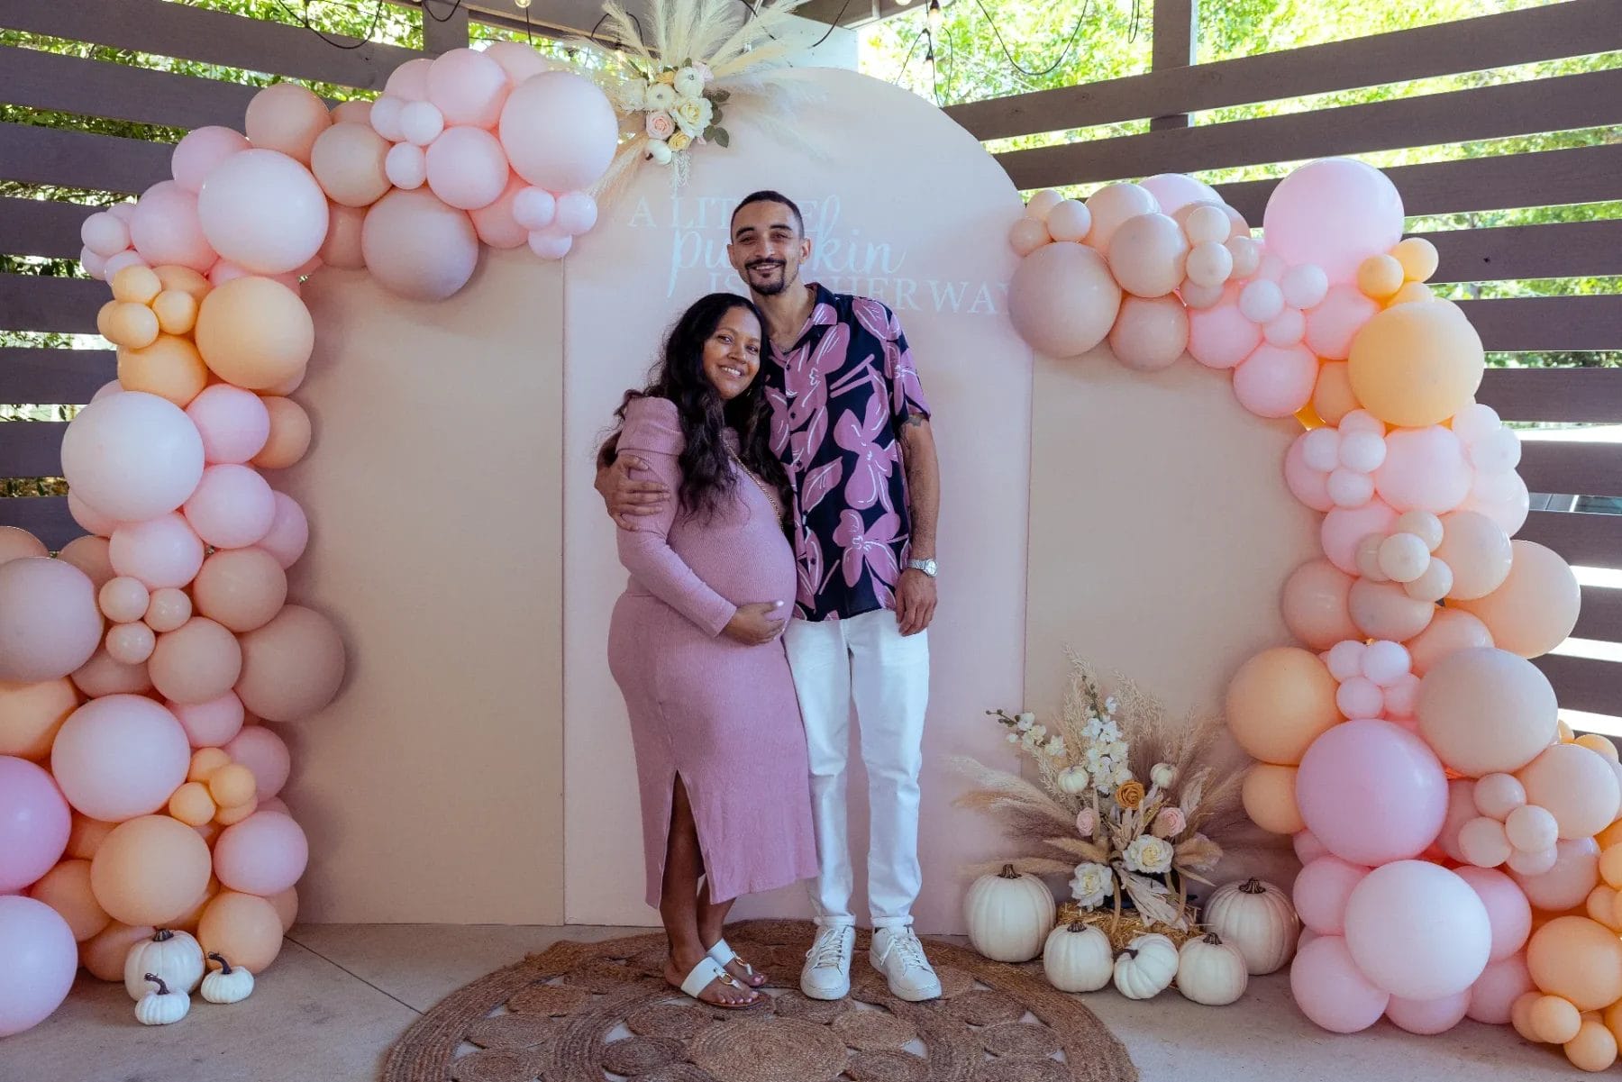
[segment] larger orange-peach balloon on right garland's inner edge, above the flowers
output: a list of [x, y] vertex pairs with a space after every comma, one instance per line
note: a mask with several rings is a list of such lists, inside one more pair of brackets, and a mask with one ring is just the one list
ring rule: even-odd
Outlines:
[[1296, 766], [1314, 740], [1341, 720], [1338, 683], [1309, 650], [1275, 647], [1257, 654], [1228, 685], [1228, 728], [1262, 762]]

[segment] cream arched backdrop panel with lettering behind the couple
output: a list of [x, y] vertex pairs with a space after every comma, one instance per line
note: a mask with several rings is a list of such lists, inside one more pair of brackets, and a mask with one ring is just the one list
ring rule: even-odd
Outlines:
[[[613, 526], [592, 490], [592, 453], [621, 393], [641, 384], [663, 329], [715, 289], [732, 206], [777, 188], [806, 213], [805, 276], [895, 308], [934, 409], [941, 449], [941, 607], [931, 629], [920, 850], [923, 931], [962, 926], [959, 865], [1001, 850], [994, 827], [950, 806], [957, 753], [996, 756], [983, 711], [1019, 699], [1023, 678], [1030, 347], [1006, 315], [1020, 200], [1001, 167], [931, 104], [887, 83], [826, 68], [796, 73], [826, 92], [793, 123], [821, 154], [785, 146], [738, 110], [732, 149], [693, 156], [678, 198], [644, 165], [566, 261], [564, 459], [566, 913], [571, 923], [655, 923], [642, 902], [642, 850], [629, 730], [608, 675], [607, 636], [624, 584]], [[853, 753], [853, 762], [860, 756]], [[744, 780], [746, 784], [746, 780]], [[852, 774], [858, 915], [865, 913], [866, 780]], [[736, 915], [805, 915], [790, 887]]]

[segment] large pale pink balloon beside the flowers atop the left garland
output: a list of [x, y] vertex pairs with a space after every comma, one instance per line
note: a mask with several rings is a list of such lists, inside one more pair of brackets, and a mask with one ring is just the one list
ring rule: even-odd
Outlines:
[[514, 172], [547, 191], [590, 188], [620, 144], [608, 97], [569, 71], [543, 71], [513, 88], [500, 131]]

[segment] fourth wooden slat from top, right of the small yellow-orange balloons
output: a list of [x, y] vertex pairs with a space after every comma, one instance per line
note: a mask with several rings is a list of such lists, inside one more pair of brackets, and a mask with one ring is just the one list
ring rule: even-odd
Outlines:
[[[1622, 180], [1617, 182], [1622, 196]], [[1442, 256], [1434, 282], [1622, 274], [1622, 219], [1422, 234]]]

